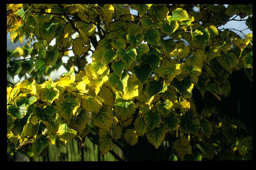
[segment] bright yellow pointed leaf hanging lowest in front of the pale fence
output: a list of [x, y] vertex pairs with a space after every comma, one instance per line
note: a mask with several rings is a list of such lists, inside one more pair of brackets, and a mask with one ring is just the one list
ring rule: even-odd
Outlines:
[[73, 139], [77, 134], [77, 131], [71, 129], [66, 123], [60, 123], [58, 132], [56, 132], [57, 137], [66, 144], [68, 141]]

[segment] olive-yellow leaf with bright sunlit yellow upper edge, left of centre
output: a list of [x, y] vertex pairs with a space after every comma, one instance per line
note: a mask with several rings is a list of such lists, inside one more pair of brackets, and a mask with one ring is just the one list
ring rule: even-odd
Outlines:
[[100, 111], [101, 106], [102, 106], [102, 103], [101, 101], [99, 101], [99, 99], [92, 96], [85, 96], [85, 95], [82, 96], [81, 107], [86, 112], [98, 113]]

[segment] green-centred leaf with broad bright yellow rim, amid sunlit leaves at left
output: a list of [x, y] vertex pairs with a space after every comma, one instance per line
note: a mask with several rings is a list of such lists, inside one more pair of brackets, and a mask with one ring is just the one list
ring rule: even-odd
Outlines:
[[55, 87], [42, 88], [40, 94], [42, 101], [45, 101], [48, 105], [51, 105], [55, 99], [59, 98], [59, 90]]

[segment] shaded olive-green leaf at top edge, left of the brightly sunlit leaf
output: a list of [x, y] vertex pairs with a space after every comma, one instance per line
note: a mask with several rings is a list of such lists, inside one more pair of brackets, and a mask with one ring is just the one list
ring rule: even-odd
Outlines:
[[167, 7], [159, 5], [159, 6], [151, 6], [147, 12], [152, 16], [155, 17], [158, 21], [163, 21], [167, 16], [169, 10]]

